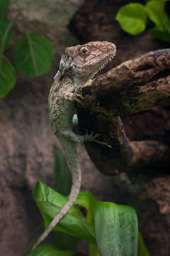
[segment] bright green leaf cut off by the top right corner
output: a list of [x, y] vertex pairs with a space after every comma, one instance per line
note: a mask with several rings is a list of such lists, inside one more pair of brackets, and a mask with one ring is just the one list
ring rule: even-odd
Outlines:
[[170, 29], [169, 17], [165, 12], [165, 2], [164, 1], [147, 1], [145, 6], [147, 15], [150, 20], [154, 22], [157, 29], [164, 31]]

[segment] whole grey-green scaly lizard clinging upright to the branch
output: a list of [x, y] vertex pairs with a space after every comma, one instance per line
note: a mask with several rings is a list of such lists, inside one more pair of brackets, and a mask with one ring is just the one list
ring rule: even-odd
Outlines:
[[77, 115], [74, 113], [76, 110], [75, 102], [80, 102], [79, 98], [81, 98], [78, 89], [94, 78], [98, 70], [104, 68], [113, 59], [115, 52], [115, 44], [107, 41], [91, 41], [84, 45], [67, 47], [64, 50], [60, 60], [60, 68], [50, 89], [48, 110], [52, 131], [59, 139], [69, 161], [69, 167], [71, 167], [72, 188], [67, 203], [42, 233], [38, 242], [35, 242], [32, 250], [45, 240], [52, 228], [72, 207], [78, 196], [81, 186], [81, 170], [77, 143], [96, 142], [108, 146], [105, 142], [96, 139], [99, 134], [79, 135], [74, 133], [73, 127], [78, 123]]

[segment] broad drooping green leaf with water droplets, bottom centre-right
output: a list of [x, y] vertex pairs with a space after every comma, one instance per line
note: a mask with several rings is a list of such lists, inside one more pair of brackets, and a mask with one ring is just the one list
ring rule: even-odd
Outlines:
[[94, 223], [101, 256], [137, 256], [137, 214], [134, 208], [97, 202]]

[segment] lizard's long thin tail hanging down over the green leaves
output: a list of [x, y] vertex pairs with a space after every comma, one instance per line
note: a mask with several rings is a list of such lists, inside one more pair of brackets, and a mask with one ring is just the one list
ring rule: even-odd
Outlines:
[[[68, 145], [68, 142], [70, 145]], [[32, 250], [34, 250], [40, 243], [47, 238], [47, 235], [50, 234], [52, 231], [52, 228], [55, 228], [55, 225], [59, 223], [61, 218], [67, 213], [69, 208], [72, 207], [74, 204], [74, 201], [76, 200], [80, 186], [81, 186], [81, 170], [79, 166], [79, 159], [77, 155], [77, 149], [76, 149], [76, 143], [70, 142], [67, 140], [67, 143], [64, 143], [64, 138], [62, 139], [62, 147], [67, 155], [67, 158], [69, 160], [69, 164], [72, 168], [72, 188], [69, 194], [69, 198], [67, 200], [67, 203], [63, 206], [63, 208], [60, 210], [60, 212], [55, 216], [55, 218], [52, 220], [48, 228], [45, 230], [45, 232], [40, 236], [38, 242], [35, 242], [35, 245], [33, 245]]]

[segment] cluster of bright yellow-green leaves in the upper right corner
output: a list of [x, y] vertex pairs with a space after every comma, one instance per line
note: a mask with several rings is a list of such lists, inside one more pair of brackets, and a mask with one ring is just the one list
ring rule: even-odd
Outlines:
[[170, 20], [166, 14], [166, 1], [151, 0], [144, 5], [130, 3], [122, 6], [115, 16], [121, 28], [134, 36], [145, 30], [147, 18], [154, 23], [149, 33], [160, 41], [170, 42]]

